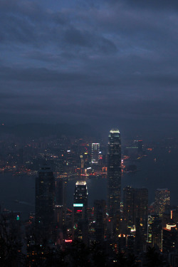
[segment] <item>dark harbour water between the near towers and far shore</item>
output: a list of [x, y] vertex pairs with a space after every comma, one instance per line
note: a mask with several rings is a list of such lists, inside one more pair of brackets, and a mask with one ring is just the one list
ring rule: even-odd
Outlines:
[[[156, 159], [156, 160], [155, 160]], [[147, 187], [149, 204], [154, 201], [155, 189], [167, 187], [171, 192], [171, 204], [178, 205], [177, 177], [178, 150], [159, 149], [149, 152], [147, 157], [133, 162], [137, 164], [137, 172], [122, 175], [122, 188]], [[88, 187], [88, 204], [93, 206], [94, 199], [105, 199], [107, 195], [106, 177], [81, 177]], [[72, 206], [73, 192], [76, 179], [68, 181], [67, 204]], [[35, 177], [13, 176], [11, 173], [0, 174], [0, 203], [1, 209], [21, 211], [23, 217], [35, 207]]]

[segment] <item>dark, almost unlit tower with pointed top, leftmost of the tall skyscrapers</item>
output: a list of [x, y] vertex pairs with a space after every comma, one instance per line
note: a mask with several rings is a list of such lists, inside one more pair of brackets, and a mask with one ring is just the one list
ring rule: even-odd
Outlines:
[[53, 228], [55, 209], [55, 178], [51, 168], [44, 165], [36, 177], [36, 227], [43, 232]]

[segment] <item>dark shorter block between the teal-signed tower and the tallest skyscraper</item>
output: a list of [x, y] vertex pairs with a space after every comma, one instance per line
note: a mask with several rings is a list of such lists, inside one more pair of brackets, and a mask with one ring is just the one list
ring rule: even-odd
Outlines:
[[103, 241], [105, 236], [106, 203], [105, 200], [95, 199], [94, 220], [95, 220], [95, 240]]

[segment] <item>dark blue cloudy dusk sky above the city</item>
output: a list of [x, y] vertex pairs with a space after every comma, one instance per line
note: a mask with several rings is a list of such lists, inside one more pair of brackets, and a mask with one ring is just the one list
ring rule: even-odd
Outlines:
[[0, 120], [177, 134], [178, 1], [0, 0]]

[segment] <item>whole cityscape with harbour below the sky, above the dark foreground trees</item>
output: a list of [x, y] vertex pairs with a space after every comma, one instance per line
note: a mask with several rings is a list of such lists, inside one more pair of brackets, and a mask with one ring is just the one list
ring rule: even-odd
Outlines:
[[[95, 267], [93, 248], [101, 246], [95, 249], [105, 253], [108, 266], [120, 261], [120, 253], [130, 266], [132, 253], [132, 260], [142, 267], [147, 253], [156, 250], [160, 259], [176, 267], [178, 208], [172, 167], [177, 168], [177, 140], [166, 138], [148, 145], [133, 139], [122, 145], [121, 154], [117, 128], [109, 132], [108, 147], [103, 140], [93, 143], [94, 137], [86, 136], [21, 137], [14, 142], [11, 138], [0, 142], [0, 221], [6, 223], [4, 229], [14, 244], [26, 241], [23, 260], [28, 266], [40, 266], [53, 257], [58, 263], [61, 251], [69, 256], [63, 261], [72, 261], [73, 266], [78, 259], [71, 258], [71, 248], [80, 246]], [[155, 194], [155, 203], [150, 194]], [[8, 209], [7, 201], [16, 208]]]

